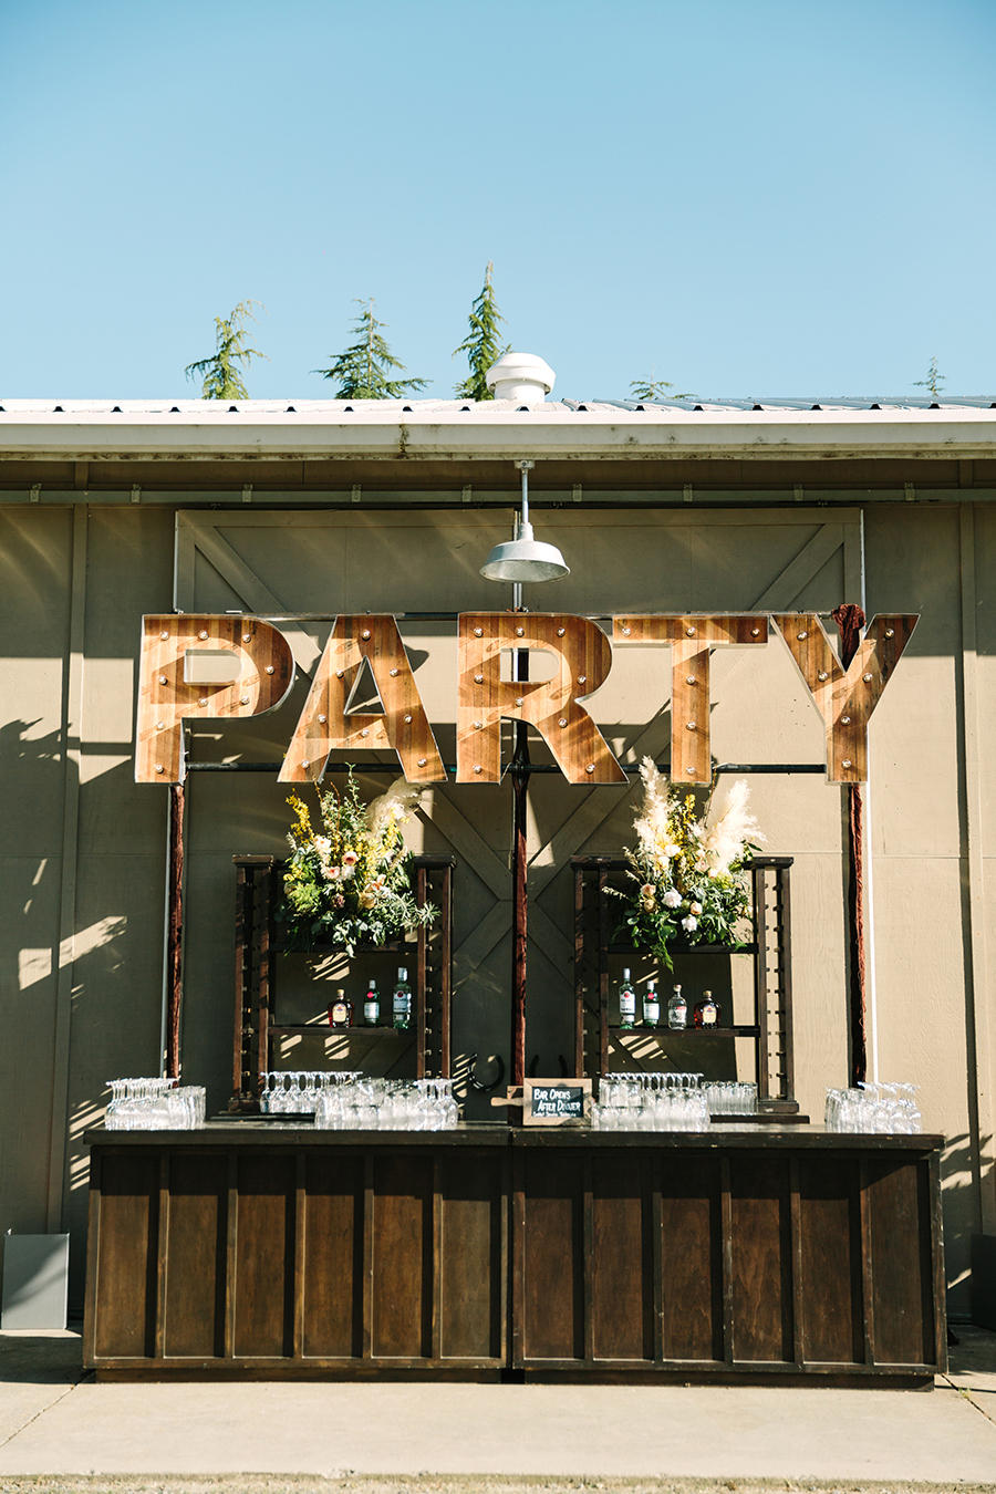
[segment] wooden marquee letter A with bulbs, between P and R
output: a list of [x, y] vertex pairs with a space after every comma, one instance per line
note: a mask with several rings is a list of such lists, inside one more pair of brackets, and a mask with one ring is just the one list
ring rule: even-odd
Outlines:
[[[384, 714], [348, 711], [364, 660]], [[409, 783], [445, 783], [446, 769], [402, 635], [390, 614], [351, 614], [337, 617], [332, 624], [279, 781], [321, 778], [333, 747], [346, 751], [393, 750]]]

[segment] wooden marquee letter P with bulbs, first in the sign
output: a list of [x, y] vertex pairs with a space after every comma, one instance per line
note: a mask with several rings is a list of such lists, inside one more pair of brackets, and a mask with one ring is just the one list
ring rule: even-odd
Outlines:
[[[187, 665], [187, 654], [206, 657]], [[221, 654], [230, 659], [218, 659]], [[199, 683], [212, 674], [215, 683]], [[185, 719], [263, 716], [285, 699], [293, 683], [294, 656], [270, 623], [197, 613], [143, 617], [136, 783], [184, 781]]]

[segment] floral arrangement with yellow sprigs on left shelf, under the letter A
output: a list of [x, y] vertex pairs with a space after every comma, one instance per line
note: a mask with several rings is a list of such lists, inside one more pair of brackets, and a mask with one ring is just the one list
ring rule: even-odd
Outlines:
[[432, 923], [436, 908], [415, 902], [408, 877], [412, 853], [402, 835], [418, 798], [420, 790], [399, 778], [364, 805], [349, 771], [342, 793], [318, 793], [315, 829], [308, 805], [291, 793], [291, 856], [276, 913], [288, 925], [291, 947], [323, 943], [352, 955], [357, 944], [384, 944]]

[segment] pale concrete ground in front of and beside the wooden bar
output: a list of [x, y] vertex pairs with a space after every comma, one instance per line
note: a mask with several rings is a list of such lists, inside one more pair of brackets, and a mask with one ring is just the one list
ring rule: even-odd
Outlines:
[[996, 1334], [957, 1333], [933, 1391], [97, 1385], [78, 1334], [6, 1333], [0, 1491], [996, 1491]]

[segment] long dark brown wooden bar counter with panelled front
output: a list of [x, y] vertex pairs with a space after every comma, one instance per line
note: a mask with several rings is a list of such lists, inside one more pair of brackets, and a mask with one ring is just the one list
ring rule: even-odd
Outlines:
[[930, 1383], [936, 1135], [93, 1131], [85, 1363]]

